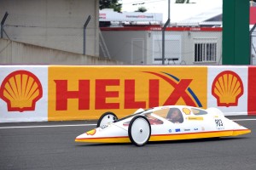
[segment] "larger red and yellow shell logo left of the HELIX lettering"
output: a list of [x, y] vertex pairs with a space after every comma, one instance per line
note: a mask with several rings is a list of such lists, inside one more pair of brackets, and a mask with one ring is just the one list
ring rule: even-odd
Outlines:
[[34, 111], [36, 102], [42, 96], [41, 82], [29, 71], [10, 73], [0, 88], [0, 98], [7, 103], [8, 111]]

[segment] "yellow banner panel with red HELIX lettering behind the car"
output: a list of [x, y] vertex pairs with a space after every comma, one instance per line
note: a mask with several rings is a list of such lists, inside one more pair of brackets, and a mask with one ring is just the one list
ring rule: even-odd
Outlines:
[[119, 118], [139, 108], [207, 108], [206, 66], [49, 66], [49, 121]]

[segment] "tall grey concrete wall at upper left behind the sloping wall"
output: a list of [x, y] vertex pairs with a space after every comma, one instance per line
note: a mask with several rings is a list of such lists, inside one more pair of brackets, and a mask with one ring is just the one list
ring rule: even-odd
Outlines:
[[98, 56], [98, 3], [98, 0], [0, 0], [0, 19], [6, 11], [9, 13], [4, 38], [83, 54], [83, 26], [91, 15], [86, 54]]

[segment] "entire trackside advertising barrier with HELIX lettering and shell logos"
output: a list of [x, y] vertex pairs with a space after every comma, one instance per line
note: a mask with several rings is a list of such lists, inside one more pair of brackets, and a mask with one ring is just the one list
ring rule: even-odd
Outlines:
[[123, 117], [158, 105], [256, 115], [255, 66], [0, 66], [0, 122]]

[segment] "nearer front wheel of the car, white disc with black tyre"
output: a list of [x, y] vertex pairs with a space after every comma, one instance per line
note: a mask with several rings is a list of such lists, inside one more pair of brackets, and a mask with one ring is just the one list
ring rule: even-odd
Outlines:
[[141, 115], [133, 117], [128, 127], [128, 135], [132, 144], [137, 146], [147, 144], [151, 136], [151, 125], [148, 119]]

